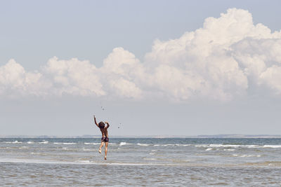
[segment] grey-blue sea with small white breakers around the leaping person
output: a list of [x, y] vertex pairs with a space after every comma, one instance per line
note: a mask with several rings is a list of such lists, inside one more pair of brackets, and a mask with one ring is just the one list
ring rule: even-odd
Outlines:
[[0, 186], [281, 186], [281, 139], [2, 138]]

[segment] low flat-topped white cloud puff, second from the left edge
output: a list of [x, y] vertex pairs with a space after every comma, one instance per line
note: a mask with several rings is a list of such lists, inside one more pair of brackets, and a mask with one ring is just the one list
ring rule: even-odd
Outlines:
[[89, 61], [79, 61], [76, 58], [58, 60], [53, 57], [48, 60], [43, 72], [53, 83], [52, 94], [96, 97], [106, 94], [100, 83], [97, 68]]

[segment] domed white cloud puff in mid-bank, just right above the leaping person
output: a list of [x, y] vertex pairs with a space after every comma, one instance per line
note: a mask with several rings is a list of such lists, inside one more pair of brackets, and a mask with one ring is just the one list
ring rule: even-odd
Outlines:
[[129, 51], [113, 49], [103, 60], [103, 67], [99, 71], [110, 97], [140, 99], [143, 96], [141, 88], [136, 85], [137, 78], [143, 76], [143, 66]]

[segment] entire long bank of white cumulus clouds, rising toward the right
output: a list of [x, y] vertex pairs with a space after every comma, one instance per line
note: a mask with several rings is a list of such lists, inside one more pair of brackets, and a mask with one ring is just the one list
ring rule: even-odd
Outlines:
[[115, 48], [99, 68], [57, 57], [34, 72], [15, 60], [0, 67], [0, 95], [228, 101], [251, 88], [281, 94], [281, 32], [236, 8], [179, 39], [156, 40], [143, 62]]

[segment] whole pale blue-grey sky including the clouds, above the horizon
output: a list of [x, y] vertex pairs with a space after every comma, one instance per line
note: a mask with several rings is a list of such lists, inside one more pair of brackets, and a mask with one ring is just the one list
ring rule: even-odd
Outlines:
[[0, 135], [281, 134], [280, 1], [1, 1]]

